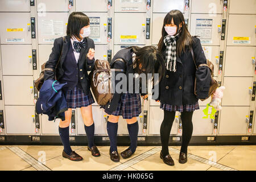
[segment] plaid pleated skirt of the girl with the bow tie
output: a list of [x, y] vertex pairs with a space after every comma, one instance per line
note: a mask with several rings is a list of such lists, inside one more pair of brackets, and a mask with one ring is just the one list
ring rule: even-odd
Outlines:
[[95, 102], [90, 91], [86, 96], [84, 90], [77, 89], [77, 87], [72, 90], [67, 90], [65, 98], [68, 108], [72, 109], [76, 109], [76, 107], [87, 107]]

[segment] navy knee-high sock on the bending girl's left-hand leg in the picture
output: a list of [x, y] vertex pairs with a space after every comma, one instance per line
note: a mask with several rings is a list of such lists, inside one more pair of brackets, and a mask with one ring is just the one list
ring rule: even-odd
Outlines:
[[109, 134], [109, 140], [110, 140], [110, 152], [117, 151], [117, 129], [118, 129], [118, 123], [107, 123], [107, 130]]

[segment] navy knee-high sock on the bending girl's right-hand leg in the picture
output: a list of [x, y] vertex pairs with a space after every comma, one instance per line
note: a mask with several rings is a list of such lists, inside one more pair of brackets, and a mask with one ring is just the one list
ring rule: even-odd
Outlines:
[[130, 135], [131, 145], [130, 150], [131, 152], [135, 152], [137, 148], [137, 139], [138, 139], [138, 131], [139, 131], [139, 124], [138, 121], [136, 121], [133, 124], [127, 124], [127, 128]]

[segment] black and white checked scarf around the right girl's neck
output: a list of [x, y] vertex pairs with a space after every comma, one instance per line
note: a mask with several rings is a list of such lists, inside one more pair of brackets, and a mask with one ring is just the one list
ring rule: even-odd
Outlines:
[[164, 44], [166, 45], [166, 69], [171, 72], [176, 72], [176, 40], [179, 38], [180, 31], [176, 36], [167, 35], [164, 37]]

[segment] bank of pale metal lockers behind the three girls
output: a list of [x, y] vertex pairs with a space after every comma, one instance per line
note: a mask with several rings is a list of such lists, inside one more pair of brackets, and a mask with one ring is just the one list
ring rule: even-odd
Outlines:
[[[212, 98], [199, 100], [189, 145], [255, 145], [255, 0], [0, 0], [0, 145], [61, 145], [61, 120], [48, 121], [46, 114], [36, 113], [40, 92], [34, 82], [55, 40], [67, 35], [71, 13], [88, 16], [95, 60], [110, 62], [118, 51], [131, 46], [157, 48], [164, 18], [171, 10], [181, 11], [184, 26], [200, 39], [205, 57], [214, 65], [213, 78], [219, 87], [225, 86], [221, 110], [214, 118], [204, 118]], [[164, 111], [160, 102], [151, 99], [150, 84], [148, 98], [141, 97], [142, 112], [137, 117], [137, 143], [143, 147], [161, 146]], [[109, 146], [108, 114], [95, 102], [92, 115], [97, 146]], [[72, 146], [88, 144], [84, 126], [81, 110], [72, 109]], [[169, 145], [181, 146], [182, 134], [181, 113], [176, 111]], [[122, 117], [117, 144], [130, 144]]]

